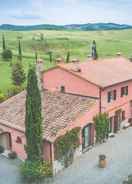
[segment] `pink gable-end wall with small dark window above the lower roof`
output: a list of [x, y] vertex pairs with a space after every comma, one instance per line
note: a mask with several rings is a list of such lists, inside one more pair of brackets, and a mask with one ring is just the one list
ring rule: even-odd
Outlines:
[[65, 86], [65, 90], [68, 93], [99, 97], [99, 89], [96, 85], [61, 68], [45, 72], [43, 74], [43, 86], [45, 89], [54, 91], [60, 91], [60, 87]]

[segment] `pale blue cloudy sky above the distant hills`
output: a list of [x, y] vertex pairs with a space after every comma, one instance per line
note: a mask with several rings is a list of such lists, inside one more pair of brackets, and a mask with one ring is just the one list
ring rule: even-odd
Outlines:
[[132, 0], [0, 0], [0, 24], [132, 25]]

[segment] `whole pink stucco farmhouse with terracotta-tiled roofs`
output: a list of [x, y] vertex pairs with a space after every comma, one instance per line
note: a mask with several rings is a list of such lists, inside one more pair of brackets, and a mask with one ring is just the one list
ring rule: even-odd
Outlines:
[[[55, 141], [80, 127], [80, 146], [75, 157], [92, 148], [96, 141], [93, 117], [107, 112], [109, 132], [116, 134], [132, 118], [132, 62], [118, 56], [83, 63], [58, 64], [42, 73], [43, 157], [62, 169], [55, 155]], [[26, 159], [25, 100], [22, 92], [0, 104], [0, 145]]]

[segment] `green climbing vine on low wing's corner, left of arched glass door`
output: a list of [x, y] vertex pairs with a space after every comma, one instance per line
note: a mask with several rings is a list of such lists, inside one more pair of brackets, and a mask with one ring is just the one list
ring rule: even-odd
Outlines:
[[64, 136], [59, 137], [55, 142], [55, 156], [65, 167], [73, 161], [75, 149], [79, 146], [80, 128], [68, 131]]

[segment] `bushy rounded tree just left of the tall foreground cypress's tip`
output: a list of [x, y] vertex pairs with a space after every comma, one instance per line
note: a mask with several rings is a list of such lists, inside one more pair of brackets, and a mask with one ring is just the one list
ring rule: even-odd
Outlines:
[[12, 80], [16, 86], [21, 86], [26, 79], [23, 66], [20, 62], [16, 62], [12, 66]]

